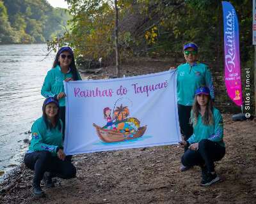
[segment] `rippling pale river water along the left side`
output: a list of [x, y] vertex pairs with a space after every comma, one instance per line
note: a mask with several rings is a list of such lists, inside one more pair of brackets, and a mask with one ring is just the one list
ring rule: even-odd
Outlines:
[[22, 161], [28, 148], [24, 140], [30, 140], [28, 131], [42, 115], [40, 91], [55, 56], [52, 53], [44, 59], [47, 53], [46, 44], [0, 45], [1, 174]]

